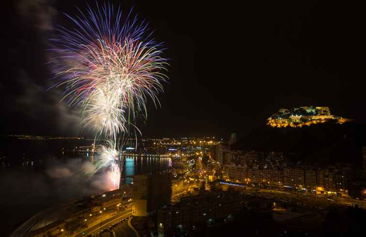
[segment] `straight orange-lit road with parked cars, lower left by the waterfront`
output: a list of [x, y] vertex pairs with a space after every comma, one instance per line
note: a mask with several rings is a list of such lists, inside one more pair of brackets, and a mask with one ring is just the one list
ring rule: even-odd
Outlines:
[[[82, 232], [77, 233], [77, 235], [75, 235], [74, 237], [86, 237], [88, 235], [97, 236], [97, 233], [100, 232], [101, 230], [106, 229], [109, 226], [111, 226], [112, 224], [116, 223], [117, 221], [120, 221], [131, 215], [132, 215], [131, 209], [127, 209], [127, 210], [117, 214], [114, 217], [104, 220], [102, 225], [98, 223], [94, 226], [89, 227], [88, 229], [84, 229]], [[135, 233], [133, 231], [132, 231], [132, 233], [133, 233], [133, 235], [131, 235], [131, 237], [135, 237], [136, 236]]]

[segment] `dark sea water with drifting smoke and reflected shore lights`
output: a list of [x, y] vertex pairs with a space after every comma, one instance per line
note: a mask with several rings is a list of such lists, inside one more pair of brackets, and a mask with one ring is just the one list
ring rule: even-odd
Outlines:
[[[83, 195], [112, 190], [108, 171], [94, 171], [98, 154], [63, 152], [92, 140], [2, 139], [0, 150], [0, 236], [8, 236], [37, 212]], [[128, 177], [167, 170], [169, 158], [126, 157]], [[5, 218], [7, 217], [7, 218]]]

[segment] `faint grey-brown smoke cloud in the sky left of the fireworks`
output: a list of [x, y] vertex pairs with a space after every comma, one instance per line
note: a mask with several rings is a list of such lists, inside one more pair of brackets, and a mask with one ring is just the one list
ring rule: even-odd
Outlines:
[[1, 108], [6, 111], [3, 134], [82, 135], [79, 111], [60, 102], [61, 88], [48, 90], [55, 84], [47, 64], [52, 58], [48, 39], [58, 14], [53, 4], [50, 0], [15, 0], [9, 6], [13, 27], [6, 34], [6, 70], [0, 81], [6, 101]]

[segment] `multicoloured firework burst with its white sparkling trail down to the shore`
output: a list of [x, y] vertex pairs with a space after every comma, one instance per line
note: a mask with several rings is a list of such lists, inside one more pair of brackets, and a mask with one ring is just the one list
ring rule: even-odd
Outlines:
[[96, 171], [109, 167], [109, 177], [119, 187], [124, 160], [119, 155], [122, 145], [116, 146], [118, 136], [124, 138], [131, 128], [139, 132], [134, 123], [147, 118], [149, 98], [155, 107], [160, 105], [157, 95], [168, 79], [162, 72], [168, 63], [145, 21], [138, 23], [131, 11], [124, 17], [112, 4], [96, 4], [96, 10], [88, 5], [86, 13], [78, 9], [76, 17], [65, 14], [76, 26], [56, 29], [59, 37], [51, 39], [51, 50], [57, 56], [50, 63], [58, 79], [54, 87], [65, 88], [61, 100], [81, 109], [82, 125], [92, 127], [95, 140], [107, 137]]

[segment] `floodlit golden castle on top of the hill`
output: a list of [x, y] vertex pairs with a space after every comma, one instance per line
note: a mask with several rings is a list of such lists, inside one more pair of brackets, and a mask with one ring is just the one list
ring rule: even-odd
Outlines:
[[330, 120], [335, 120], [339, 124], [349, 121], [349, 119], [332, 115], [329, 107], [303, 106], [293, 109], [280, 109], [267, 119], [267, 124], [272, 127], [301, 127]]

